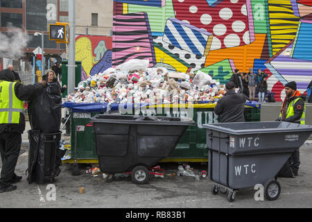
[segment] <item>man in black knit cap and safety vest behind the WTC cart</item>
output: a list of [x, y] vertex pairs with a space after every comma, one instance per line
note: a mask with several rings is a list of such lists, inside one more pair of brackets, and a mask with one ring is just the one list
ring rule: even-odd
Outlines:
[[[305, 124], [305, 104], [306, 96], [297, 90], [297, 83], [295, 81], [289, 82], [285, 85], [286, 98], [281, 106], [279, 119], [277, 121], [286, 121], [291, 123]], [[294, 151], [289, 159], [291, 169], [294, 176], [298, 175], [300, 165], [299, 149]]]

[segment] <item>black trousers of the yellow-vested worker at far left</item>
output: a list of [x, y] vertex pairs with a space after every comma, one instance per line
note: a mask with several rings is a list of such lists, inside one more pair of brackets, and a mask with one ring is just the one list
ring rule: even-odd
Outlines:
[[14, 176], [19, 151], [21, 150], [21, 134], [0, 133], [0, 153], [2, 160], [0, 185], [10, 185]]

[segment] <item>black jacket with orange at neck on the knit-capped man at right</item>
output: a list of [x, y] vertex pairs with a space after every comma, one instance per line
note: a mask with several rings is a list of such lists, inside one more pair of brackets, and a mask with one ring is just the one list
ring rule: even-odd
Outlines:
[[[293, 105], [293, 110], [294, 114], [291, 117], [287, 116], [287, 110], [288, 106], [291, 103], [291, 101], [299, 99], [294, 105]], [[304, 101], [306, 100], [306, 96], [304, 94], [301, 94], [298, 90], [295, 91], [295, 93], [291, 97], [287, 97], [284, 99], [284, 103], [281, 106], [281, 121], [286, 121], [286, 122], [291, 122], [291, 123], [300, 123], [300, 118], [302, 116], [302, 113], [304, 112]]]

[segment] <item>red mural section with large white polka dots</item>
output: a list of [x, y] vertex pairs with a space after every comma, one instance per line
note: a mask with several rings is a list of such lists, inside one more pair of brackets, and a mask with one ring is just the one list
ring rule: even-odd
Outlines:
[[[204, 1], [173, 0], [175, 18], [214, 35], [210, 50], [250, 44], [254, 26], [250, 0], [224, 0], [212, 7]], [[189, 10], [185, 10], [188, 8]]]

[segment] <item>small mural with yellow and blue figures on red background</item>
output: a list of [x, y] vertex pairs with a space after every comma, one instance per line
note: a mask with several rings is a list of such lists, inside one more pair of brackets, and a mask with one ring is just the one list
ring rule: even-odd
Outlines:
[[83, 67], [82, 80], [112, 67], [112, 37], [76, 36], [76, 60], [81, 61]]

